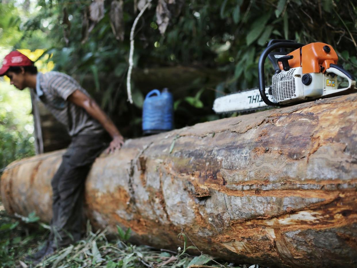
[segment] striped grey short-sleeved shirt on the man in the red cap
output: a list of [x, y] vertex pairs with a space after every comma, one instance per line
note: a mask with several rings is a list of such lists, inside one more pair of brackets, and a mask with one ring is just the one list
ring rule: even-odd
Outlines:
[[77, 89], [89, 96], [75, 79], [56, 71], [38, 73], [36, 78], [37, 96], [55, 118], [66, 126], [71, 137], [104, 132], [102, 125], [86, 110], [67, 101], [67, 98]]

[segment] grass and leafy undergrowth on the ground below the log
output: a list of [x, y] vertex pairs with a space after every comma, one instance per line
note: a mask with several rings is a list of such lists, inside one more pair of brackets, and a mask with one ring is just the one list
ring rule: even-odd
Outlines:
[[83, 240], [67, 248], [56, 250], [40, 264], [34, 265], [25, 260], [28, 254], [39, 250], [49, 234], [49, 226], [39, 222], [34, 213], [28, 217], [9, 215], [0, 203], [0, 267], [236, 267], [258, 268], [258, 265], [236, 265], [216, 260], [208, 255], [188, 255], [187, 249], [197, 249], [190, 243], [183, 230], [182, 247], [177, 252], [155, 249], [146, 245], [133, 245], [127, 242], [130, 230], [124, 232], [118, 227], [117, 238], [107, 240], [106, 230], [92, 232], [87, 224], [87, 233]]

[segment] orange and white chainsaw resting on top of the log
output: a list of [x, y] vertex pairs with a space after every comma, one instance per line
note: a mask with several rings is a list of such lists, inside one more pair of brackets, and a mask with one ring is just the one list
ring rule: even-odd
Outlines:
[[[273, 51], [278, 49], [278, 51]], [[286, 49], [295, 49], [287, 53]], [[275, 69], [271, 86], [265, 86], [264, 63], [269, 58]], [[324, 43], [304, 45], [291, 40], [273, 39], [258, 63], [259, 88], [215, 99], [216, 113], [251, 111], [266, 106], [285, 106], [325, 96], [350, 93], [356, 89], [355, 77], [337, 64], [335, 50]], [[348, 81], [339, 88], [340, 76]], [[340, 78], [341, 79], [341, 78]]]

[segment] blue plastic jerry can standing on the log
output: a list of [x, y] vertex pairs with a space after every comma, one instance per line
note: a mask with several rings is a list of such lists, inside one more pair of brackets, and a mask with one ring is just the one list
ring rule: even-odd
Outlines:
[[155, 134], [174, 129], [174, 99], [164, 88], [162, 92], [151, 90], [142, 107], [142, 130], [144, 134]]

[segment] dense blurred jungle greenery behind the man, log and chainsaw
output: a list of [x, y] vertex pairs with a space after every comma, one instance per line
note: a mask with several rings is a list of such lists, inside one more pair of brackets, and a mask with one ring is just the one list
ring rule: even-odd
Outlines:
[[[152, 0], [133, 32], [130, 104], [130, 32], [146, 1], [0, 0], [0, 60], [21, 49], [40, 71], [74, 76], [127, 138], [142, 135], [142, 104], [154, 88], [173, 93], [176, 128], [237, 116], [216, 115], [213, 101], [258, 86], [258, 59], [270, 39], [330, 44], [339, 63], [357, 74], [356, 0]], [[272, 74], [270, 65], [267, 61], [266, 73]], [[267, 84], [270, 79], [267, 75]], [[29, 91], [1, 78], [0, 169], [34, 155], [33, 133]], [[11, 263], [20, 254], [16, 248], [29, 241], [14, 242], [15, 230], [20, 238], [27, 231], [6, 219], [0, 258]], [[29, 219], [36, 222], [34, 215]]]

